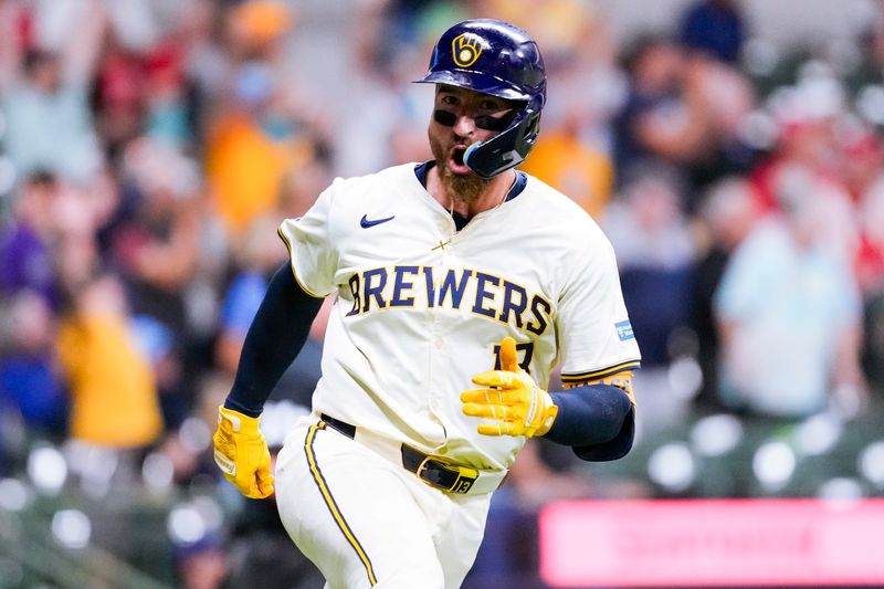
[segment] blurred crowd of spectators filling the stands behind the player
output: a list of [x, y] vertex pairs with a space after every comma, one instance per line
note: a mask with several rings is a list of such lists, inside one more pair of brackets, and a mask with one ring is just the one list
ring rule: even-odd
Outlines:
[[[182, 587], [274, 567], [316, 587], [274, 512], [220, 483], [215, 408], [287, 257], [280, 221], [335, 176], [431, 158], [432, 94], [409, 82], [471, 17], [544, 51], [523, 168], [614, 245], [643, 355], [639, 442], [696, 416], [850, 422], [884, 382], [884, 3], [870, 10], [834, 51], [755, 38], [737, 0], [630, 39], [590, 0], [0, 0], [0, 480], [106, 509], [175, 497]], [[272, 397], [272, 445], [309, 406], [323, 316]], [[41, 474], [34, 449], [67, 475]], [[654, 488], [604, 487], [529, 444], [475, 586], [530, 566], [507, 532], [539, 506], [606, 494]], [[92, 540], [129, 558], [120, 522]]]

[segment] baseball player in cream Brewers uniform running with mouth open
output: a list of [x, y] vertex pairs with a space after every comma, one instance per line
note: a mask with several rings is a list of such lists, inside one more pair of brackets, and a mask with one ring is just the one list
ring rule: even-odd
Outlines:
[[[214, 456], [282, 522], [326, 587], [460, 587], [491, 495], [526, 439], [585, 460], [632, 445], [639, 348], [610, 243], [515, 169], [546, 99], [520, 29], [471, 20], [435, 45], [434, 159], [336, 179], [280, 235], [219, 409]], [[271, 474], [259, 416], [324, 297], [336, 302], [313, 414]], [[565, 391], [545, 389], [561, 362]]]

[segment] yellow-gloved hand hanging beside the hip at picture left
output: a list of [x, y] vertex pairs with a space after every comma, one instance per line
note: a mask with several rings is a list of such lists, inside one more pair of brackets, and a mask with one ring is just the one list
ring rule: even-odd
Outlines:
[[267, 441], [257, 429], [257, 418], [218, 408], [218, 430], [212, 435], [214, 462], [224, 478], [253, 499], [273, 494]]

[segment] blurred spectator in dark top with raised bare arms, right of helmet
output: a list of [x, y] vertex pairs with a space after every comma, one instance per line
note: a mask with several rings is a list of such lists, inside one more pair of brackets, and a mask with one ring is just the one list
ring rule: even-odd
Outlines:
[[676, 166], [693, 211], [694, 190], [754, 164], [740, 136], [755, 104], [744, 74], [660, 36], [636, 42], [627, 71], [629, 97], [613, 124], [619, 186], [649, 161]]

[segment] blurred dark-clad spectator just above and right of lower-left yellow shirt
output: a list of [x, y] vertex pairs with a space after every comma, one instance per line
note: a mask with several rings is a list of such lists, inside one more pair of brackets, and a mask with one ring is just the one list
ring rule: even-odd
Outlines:
[[167, 422], [185, 419], [192, 399], [182, 390], [190, 333], [188, 286], [199, 270], [202, 214], [196, 164], [173, 147], [138, 138], [126, 147], [124, 192], [130, 209], [107, 231], [110, 259], [126, 285], [134, 325], [149, 343]]

